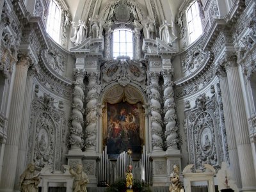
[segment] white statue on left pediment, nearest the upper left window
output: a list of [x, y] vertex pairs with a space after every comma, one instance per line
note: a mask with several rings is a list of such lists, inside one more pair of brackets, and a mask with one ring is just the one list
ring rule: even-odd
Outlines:
[[75, 32], [74, 32], [74, 36], [72, 36], [70, 40], [72, 43], [74, 43], [77, 46], [77, 45], [80, 45], [84, 40], [86, 40], [88, 29], [84, 21], [80, 19], [78, 21], [78, 26], [73, 26], [73, 28], [75, 29]]

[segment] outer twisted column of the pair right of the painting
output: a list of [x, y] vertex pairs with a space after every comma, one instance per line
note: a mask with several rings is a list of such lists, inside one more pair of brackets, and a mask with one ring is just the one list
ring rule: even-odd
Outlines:
[[176, 113], [173, 92], [173, 69], [163, 70], [164, 77], [164, 124], [167, 150], [177, 149], [177, 126], [176, 126]]

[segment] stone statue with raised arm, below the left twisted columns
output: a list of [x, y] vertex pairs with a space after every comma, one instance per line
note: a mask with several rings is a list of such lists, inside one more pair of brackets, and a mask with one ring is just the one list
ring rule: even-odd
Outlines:
[[70, 167], [70, 174], [74, 177], [73, 192], [87, 192], [88, 176], [83, 172], [83, 164], [76, 165], [76, 172]]

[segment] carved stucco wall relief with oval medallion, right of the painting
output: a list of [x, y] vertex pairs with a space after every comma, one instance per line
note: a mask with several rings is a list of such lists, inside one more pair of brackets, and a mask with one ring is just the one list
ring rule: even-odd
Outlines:
[[210, 99], [202, 94], [196, 99], [195, 107], [185, 111], [184, 126], [188, 135], [188, 148], [193, 149], [188, 150], [189, 161], [195, 164], [196, 169], [204, 169], [204, 164], [219, 168], [225, 156], [222, 153], [225, 149], [221, 149], [222, 143], [226, 141], [219, 131], [223, 126], [219, 107], [215, 97]]

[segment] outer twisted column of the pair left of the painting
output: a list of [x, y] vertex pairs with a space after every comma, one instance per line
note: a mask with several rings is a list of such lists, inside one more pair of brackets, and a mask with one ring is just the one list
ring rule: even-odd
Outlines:
[[71, 150], [81, 150], [83, 147], [83, 100], [84, 100], [84, 79], [85, 70], [76, 69], [74, 76], [73, 104], [72, 104], [72, 127], [70, 127], [70, 144]]

